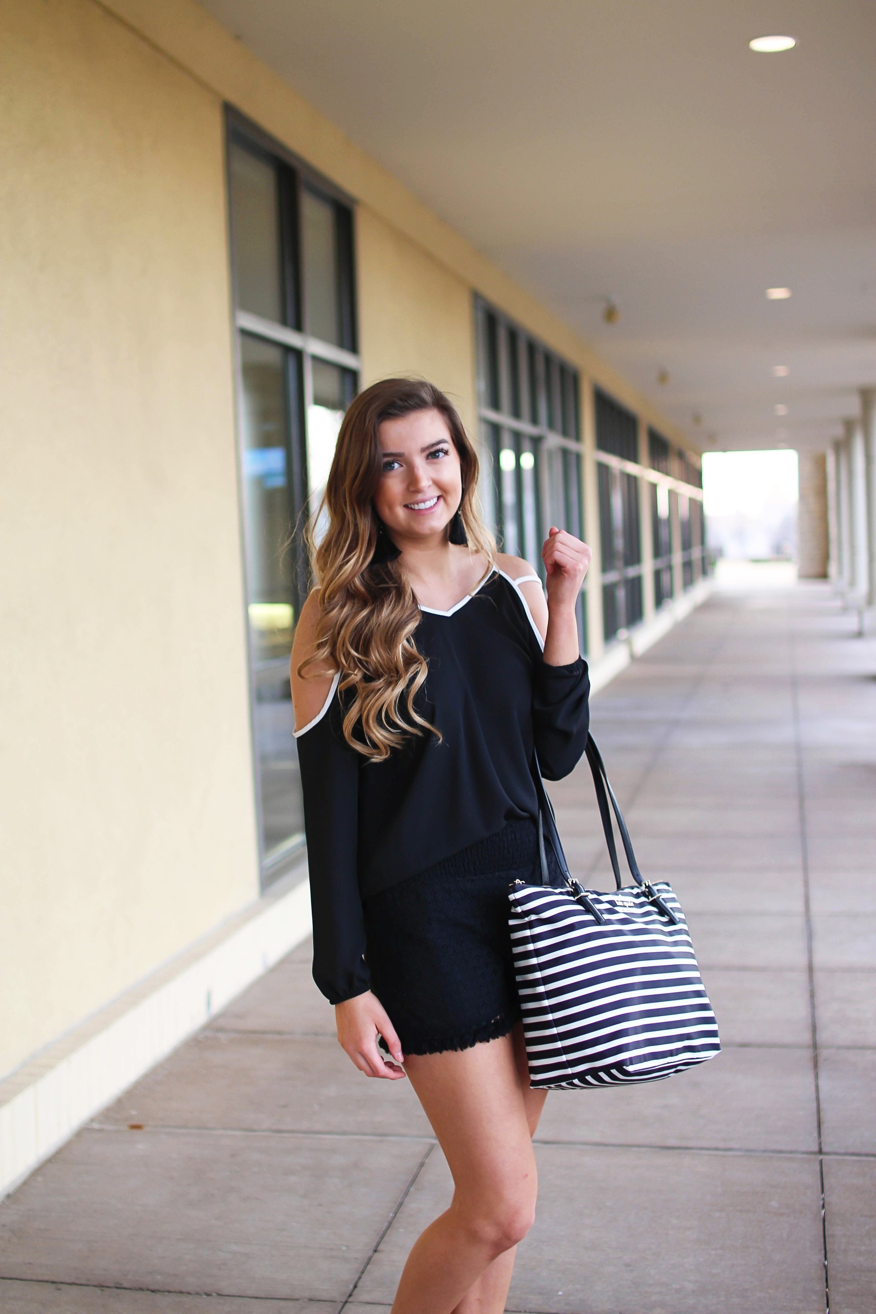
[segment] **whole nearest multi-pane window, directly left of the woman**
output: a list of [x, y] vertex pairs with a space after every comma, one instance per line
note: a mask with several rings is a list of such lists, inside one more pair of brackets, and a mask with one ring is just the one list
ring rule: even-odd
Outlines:
[[[303, 842], [289, 653], [310, 586], [301, 530], [326, 484], [345, 407], [356, 393], [352, 219], [301, 185], [277, 151], [252, 146], [231, 118], [231, 259], [239, 328], [240, 486], [250, 631], [252, 732], [263, 882]], [[320, 350], [290, 342], [284, 306], [301, 286]], [[240, 313], [256, 314], [260, 323]], [[344, 365], [324, 359], [332, 346]], [[306, 350], [307, 348], [307, 350]]]

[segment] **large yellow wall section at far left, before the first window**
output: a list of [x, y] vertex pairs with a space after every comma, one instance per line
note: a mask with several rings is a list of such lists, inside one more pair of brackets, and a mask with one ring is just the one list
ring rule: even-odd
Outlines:
[[257, 891], [222, 106], [0, 7], [0, 1074]]

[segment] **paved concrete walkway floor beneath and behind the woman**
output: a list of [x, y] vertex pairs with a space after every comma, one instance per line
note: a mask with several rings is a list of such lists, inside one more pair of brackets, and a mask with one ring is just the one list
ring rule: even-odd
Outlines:
[[[725, 1049], [549, 1096], [510, 1310], [823, 1314], [825, 1247], [833, 1314], [876, 1309], [876, 641], [852, 628], [826, 586], [755, 574], [596, 699]], [[552, 792], [594, 880], [586, 767]], [[378, 1314], [448, 1197], [406, 1083], [338, 1049], [305, 946], [0, 1206], [0, 1309]]]

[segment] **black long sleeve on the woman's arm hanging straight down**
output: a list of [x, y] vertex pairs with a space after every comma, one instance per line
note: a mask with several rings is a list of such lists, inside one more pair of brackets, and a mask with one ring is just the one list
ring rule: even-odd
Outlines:
[[362, 959], [365, 922], [359, 891], [359, 754], [340, 728], [335, 689], [317, 720], [298, 731], [305, 800], [314, 980], [331, 1004], [361, 995], [370, 974]]

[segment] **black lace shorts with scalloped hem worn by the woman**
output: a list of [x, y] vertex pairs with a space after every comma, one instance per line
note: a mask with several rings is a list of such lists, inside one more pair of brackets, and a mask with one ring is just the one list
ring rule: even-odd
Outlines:
[[[549, 866], [553, 875], [553, 854]], [[365, 900], [372, 989], [403, 1054], [465, 1050], [512, 1029], [520, 1004], [508, 884], [532, 880], [537, 869], [536, 823], [508, 821]]]

